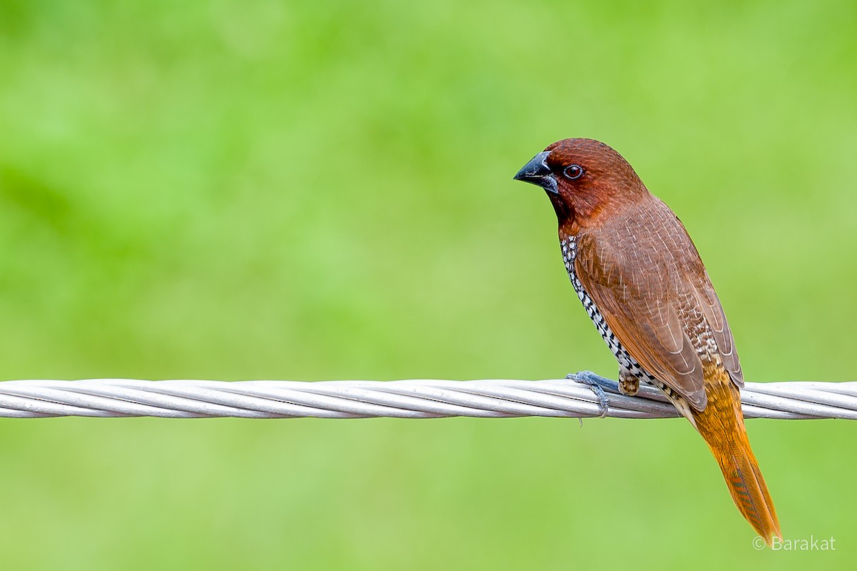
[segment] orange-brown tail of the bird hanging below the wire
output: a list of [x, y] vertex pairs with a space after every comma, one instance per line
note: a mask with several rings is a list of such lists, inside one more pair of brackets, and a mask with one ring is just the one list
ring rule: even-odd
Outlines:
[[692, 411], [696, 429], [720, 465], [738, 510], [770, 545], [775, 536], [782, 538], [780, 522], [747, 440], [738, 388], [723, 370], [706, 375], [705, 384], [708, 406]]

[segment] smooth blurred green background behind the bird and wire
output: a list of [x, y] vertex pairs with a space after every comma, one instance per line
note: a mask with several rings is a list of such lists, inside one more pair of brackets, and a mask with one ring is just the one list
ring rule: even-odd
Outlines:
[[[607, 141], [750, 381], [850, 380], [853, 2], [0, 3], [0, 376], [614, 376], [512, 175]], [[0, 422], [3, 568], [853, 568], [854, 424]]]

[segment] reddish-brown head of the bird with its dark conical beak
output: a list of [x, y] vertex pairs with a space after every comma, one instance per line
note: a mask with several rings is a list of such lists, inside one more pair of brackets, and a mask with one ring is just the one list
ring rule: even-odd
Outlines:
[[593, 139], [555, 142], [524, 165], [515, 180], [545, 190], [560, 226], [599, 225], [606, 216], [650, 196], [628, 161]]

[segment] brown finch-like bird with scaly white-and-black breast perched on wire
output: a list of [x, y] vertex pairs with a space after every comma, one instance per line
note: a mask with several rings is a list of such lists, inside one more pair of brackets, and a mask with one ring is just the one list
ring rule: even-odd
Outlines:
[[744, 518], [767, 544], [782, 539], [747, 438], [734, 338], [680, 219], [593, 139], [549, 145], [514, 179], [554, 207], [566, 272], [619, 363], [620, 392], [660, 389], [708, 444]]

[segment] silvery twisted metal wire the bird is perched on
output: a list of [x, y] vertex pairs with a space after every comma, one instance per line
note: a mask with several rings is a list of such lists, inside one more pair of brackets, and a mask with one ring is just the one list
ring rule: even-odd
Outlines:
[[[608, 394], [598, 387], [606, 388]], [[857, 419], [857, 382], [748, 382], [746, 418]], [[673, 418], [655, 388], [635, 397], [583, 372], [545, 381], [82, 381], [0, 382], [0, 417], [161, 418]]]

